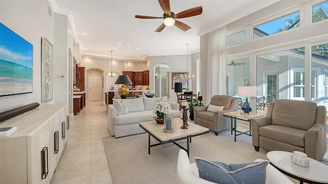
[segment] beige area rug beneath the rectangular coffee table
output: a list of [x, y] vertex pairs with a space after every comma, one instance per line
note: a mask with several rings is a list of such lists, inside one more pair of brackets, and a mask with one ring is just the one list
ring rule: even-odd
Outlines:
[[[152, 144], [157, 143], [151, 137]], [[176, 183], [176, 164], [179, 147], [173, 143], [151, 147], [148, 154], [148, 133], [126, 137], [103, 137], [108, 166], [115, 184], [120, 183]], [[187, 141], [177, 143], [187, 147]], [[267, 151], [254, 150], [252, 137], [234, 136], [230, 130], [220, 132], [218, 136], [208, 134], [192, 138], [190, 144], [190, 162], [194, 157], [218, 160], [224, 163], [247, 163], [257, 158], [267, 159]]]

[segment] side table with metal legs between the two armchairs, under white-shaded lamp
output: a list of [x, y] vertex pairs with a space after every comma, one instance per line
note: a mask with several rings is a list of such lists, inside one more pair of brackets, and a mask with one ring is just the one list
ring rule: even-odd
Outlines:
[[[242, 111], [233, 111], [233, 112], [224, 112], [223, 113], [224, 117], [228, 117], [231, 118], [231, 134], [232, 131], [235, 131], [235, 142], [236, 142], [236, 136], [237, 135], [241, 135], [241, 134], [247, 134], [252, 136], [252, 128], [251, 128], [251, 118], [257, 118], [257, 117], [261, 117], [264, 116], [264, 114], [258, 114], [258, 113], [242, 113]], [[232, 126], [233, 120], [235, 120], [235, 127]], [[250, 122], [250, 130], [248, 131], [238, 131], [236, 130], [236, 120], [242, 120], [242, 121], [246, 121], [246, 122]], [[236, 132], [239, 132], [238, 134]], [[248, 133], [250, 132], [250, 133]]]

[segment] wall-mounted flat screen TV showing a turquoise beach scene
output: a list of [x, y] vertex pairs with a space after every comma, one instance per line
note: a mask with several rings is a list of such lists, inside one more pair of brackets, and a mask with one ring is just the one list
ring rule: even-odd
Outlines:
[[0, 23], [0, 97], [32, 93], [33, 45]]

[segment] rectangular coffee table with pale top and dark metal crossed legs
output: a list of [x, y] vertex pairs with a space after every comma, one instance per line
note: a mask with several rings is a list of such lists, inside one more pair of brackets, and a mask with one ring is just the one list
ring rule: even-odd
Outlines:
[[[140, 122], [139, 126], [148, 133], [148, 154], [150, 154], [150, 147], [174, 143], [181, 149], [185, 150], [189, 156], [189, 143], [191, 143], [191, 137], [209, 133], [210, 130], [194, 123], [189, 122], [188, 124], [188, 129], [181, 129], [182, 120], [180, 118], [174, 118], [174, 131], [166, 133], [163, 131], [165, 125], [157, 124], [155, 121]], [[151, 145], [150, 136], [154, 137], [159, 143]], [[184, 139], [187, 140], [187, 149], [176, 143], [176, 141]]]

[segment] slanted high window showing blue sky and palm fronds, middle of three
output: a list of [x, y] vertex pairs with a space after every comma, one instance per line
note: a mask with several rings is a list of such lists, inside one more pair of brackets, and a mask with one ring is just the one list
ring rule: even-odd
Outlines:
[[269, 36], [300, 26], [299, 11], [276, 18], [253, 28], [254, 39]]

